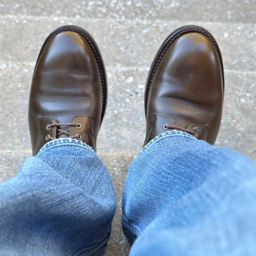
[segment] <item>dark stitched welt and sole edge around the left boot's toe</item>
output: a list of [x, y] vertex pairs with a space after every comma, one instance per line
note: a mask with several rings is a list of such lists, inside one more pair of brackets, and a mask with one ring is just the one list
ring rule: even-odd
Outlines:
[[[39, 52], [39, 55], [38, 55], [38, 58], [37, 58], [37, 61], [36, 61], [36, 66], [37, 66], [37, 62], [40, 59], [46, 45], [50, 42], [51, 38], [53, 36], [61, 33], [62, 31], [74, 31], [74, 32], [82, 35], [86, 39], [86, 41], [89, 43], [89, 45], [91, 46], [91, 49], [92, 49], [92, 51], [94, 53], [94, 56], [97, 60], [99, 71], [100, 71], [101, 84], [102, 84], [102, 95], [103, 95], [101, 121], [100, 121], [100, 124], [101, 124], [102, 119], [103, 119], [104, 114], [105, 114], [105, 111], [106, 111], [106, 106], [107, 106], [108, 89], [107, 89], [106, 70], [105, 70], [105, 65], [104, 65], [103, 59], [101, 57], [101, 53], [100, 53], [98, 45], [94, 41], [93, 37], [85, 29], [80, 28], [78, 26], [67, 25], [67, 26], [62, 26], [62, 27], [59, 27], [59, 28], [53, 30], [52, 33], [44, 41], [44, 44], [43, 44], [43, 46], [42, 46], [42, 48]], [[36, 66], [35, 66], [35, 69], [36, 69]], [[35, 70], [34, 70], [34, 72], [35, 72]]]

